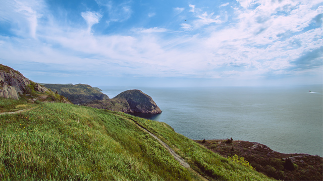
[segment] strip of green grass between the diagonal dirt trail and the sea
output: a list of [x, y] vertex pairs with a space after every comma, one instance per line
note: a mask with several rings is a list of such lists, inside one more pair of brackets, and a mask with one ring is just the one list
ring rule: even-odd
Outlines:
[[127, 114], [118, 113], [133, 119], [141, 126], [167, 143], [177, 154], [182, 156], [190, 166], [203, 176], [217, 180], [270, 180], [267, 176], [246, 166], [205, 149], [193, 140], [176, 133], [166, 123], [149, 121]]

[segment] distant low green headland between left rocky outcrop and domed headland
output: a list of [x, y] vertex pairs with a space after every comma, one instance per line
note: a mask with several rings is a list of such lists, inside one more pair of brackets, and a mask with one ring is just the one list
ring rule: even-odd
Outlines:
[[44, 84], [53, 92], [68, 98], [73, 104], [85, 104], [94, 100], [109, 100], [105, 94], [86, 84]]

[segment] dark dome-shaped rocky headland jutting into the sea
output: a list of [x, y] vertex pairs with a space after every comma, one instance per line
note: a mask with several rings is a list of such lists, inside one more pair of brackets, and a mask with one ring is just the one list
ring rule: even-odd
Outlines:
[[161, 110], [150, 96], [144, 94], [142, 91], [134, 89], [120, 93], [116, 98], [124, 98], [127, 100], [132, 112], [160, 114]]

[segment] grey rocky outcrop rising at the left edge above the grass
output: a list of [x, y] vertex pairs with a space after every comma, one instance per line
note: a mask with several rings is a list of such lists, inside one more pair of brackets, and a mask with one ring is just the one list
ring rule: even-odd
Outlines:
[[48, 89], [28, 80], [19, 71], [0, 64], [0, 97], [18, 99], [19, 94], [29, 94], [32, 90], [45, 93]]

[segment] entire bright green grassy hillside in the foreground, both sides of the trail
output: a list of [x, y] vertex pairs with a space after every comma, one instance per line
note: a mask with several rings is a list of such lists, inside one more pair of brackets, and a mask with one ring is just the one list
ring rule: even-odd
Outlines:
[[0, 115], [0, 180], [197, 179], [123, 117], [150, 130], [191, 167], [213, 179], [268, 179], [208, 151], [165, 123], [89, 107], [41, 103], [31, 111]]

